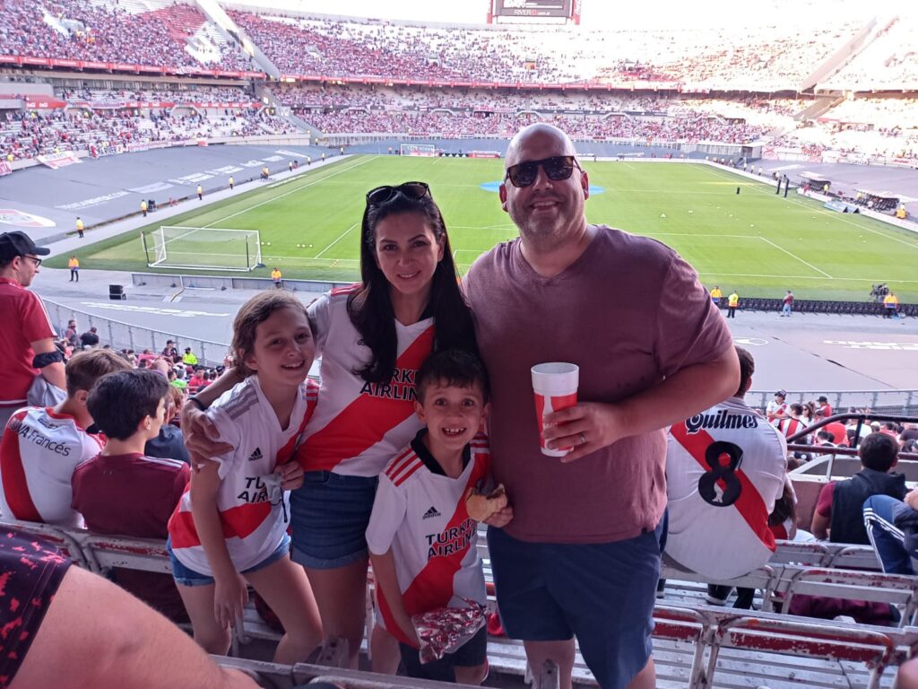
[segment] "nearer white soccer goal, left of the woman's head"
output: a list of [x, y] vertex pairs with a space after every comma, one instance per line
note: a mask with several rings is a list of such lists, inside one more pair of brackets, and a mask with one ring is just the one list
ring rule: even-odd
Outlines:
[[263, 267], [257, 230], [162, 225], [140, 239], [151, 268], [245, 271]]

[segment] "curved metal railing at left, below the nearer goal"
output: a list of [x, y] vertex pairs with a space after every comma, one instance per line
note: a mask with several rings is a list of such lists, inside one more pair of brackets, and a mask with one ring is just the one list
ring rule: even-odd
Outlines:
[[81, 332], [95, 326], [101, 343], [110, 344], [114, 349], [132, 349], [136, 354], [140, 354], [144, 349], [151, 349], [159, 353], [165, 347], [166, 340], [174, 340], [180, 352], [184, 351], [185, 347], [191, 347], [198, 361], [210, 367], [222, 364], [229, 350], [229, 343], [202, 340], [172, 331], [152, 330], [142, 325], [115, 321], [95, 313], [73, 309], [50, 299], [42, 298], [42, 301], [58, 333], [65, 333], [67, 322], [74, 319], [80, 324]]

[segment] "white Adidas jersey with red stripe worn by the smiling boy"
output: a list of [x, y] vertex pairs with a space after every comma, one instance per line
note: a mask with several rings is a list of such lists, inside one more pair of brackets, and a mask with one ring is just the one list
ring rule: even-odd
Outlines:
[[[370, 552], [383, 555], [392, 548], [398, 588], [409, 616], [438, 607], [462, 607], [463, 598], [487, 602], [476, 548], [477, 522], [465, 509], [468, 489], [484, 490], [490, 475], [487, 435], [476, 435], [466, 448], [468, 462], [458, 479], [442, 473], [421, 435], [380, 475], [366, 529]], [[378, 598], [378, 621], [409, 643], [381, 591]]]

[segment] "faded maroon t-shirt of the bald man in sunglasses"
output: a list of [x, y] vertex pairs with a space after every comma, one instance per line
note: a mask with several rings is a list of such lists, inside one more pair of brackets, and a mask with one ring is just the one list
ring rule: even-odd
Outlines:
[[662, 243], [599, 226], [583, 254], [541, 277], [520, 240], [498, 244], [465, 278], [491, 378], [495, 480], [513, 505], [510, 536], [602, 543], [657, 525], [666, 507], [666, 432], [631, 435], [575, 462], [539, 450], [534, 364], [580, 367], [580, 401], [615, 402], [733, 346], [692, 267]]

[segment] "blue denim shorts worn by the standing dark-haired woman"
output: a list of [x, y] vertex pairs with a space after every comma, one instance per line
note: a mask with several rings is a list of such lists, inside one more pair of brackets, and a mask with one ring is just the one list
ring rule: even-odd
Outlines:
[[290, 558], [314, 570], [333, 570], [369, 557], [370, 524], [379, 479], [307, 471], [302, 488], [290, 492]]

